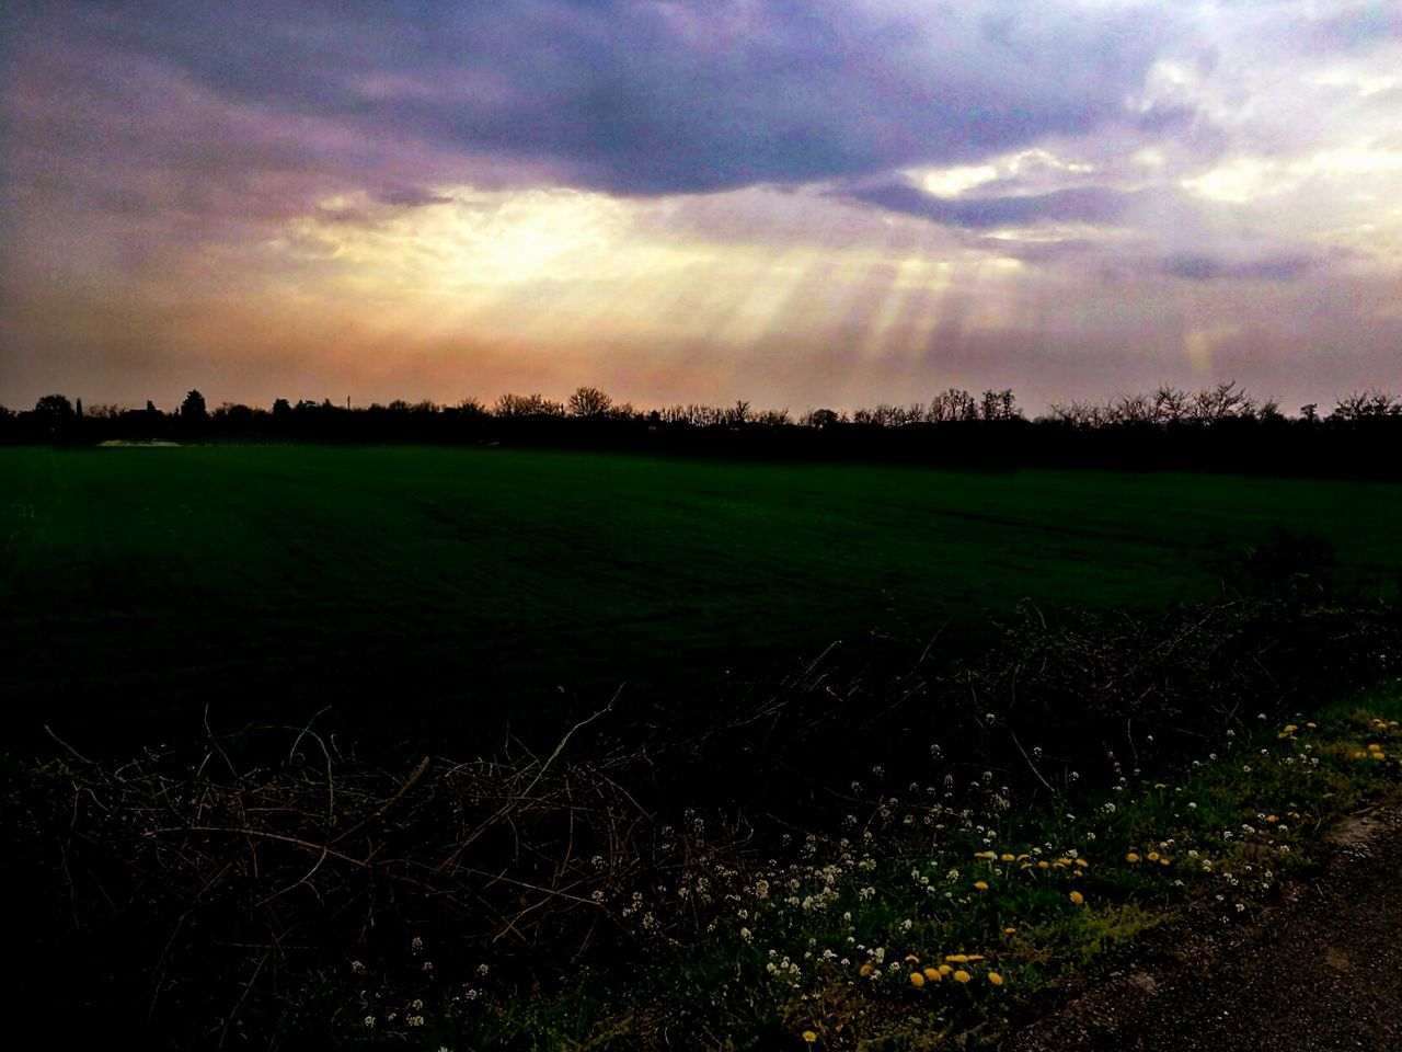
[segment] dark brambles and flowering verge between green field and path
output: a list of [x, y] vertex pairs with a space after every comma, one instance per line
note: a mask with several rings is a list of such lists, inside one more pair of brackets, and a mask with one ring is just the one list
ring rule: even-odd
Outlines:
[[1402, 659], [1326, 555], [1277, 536], [1209, 602], [1029, 607], [981, 656], [820, 658], [680, 717], [620, 694], [543, 749], [11, 756], [20, 994], [153, 1048], [993, 1037], [1185, 889], [1249, 917], [1392, 777], [1388, 710], [1309, 715]]

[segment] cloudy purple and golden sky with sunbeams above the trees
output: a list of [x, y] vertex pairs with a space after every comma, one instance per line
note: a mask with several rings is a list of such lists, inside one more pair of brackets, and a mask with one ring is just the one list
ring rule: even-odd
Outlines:
[[1402, 390], [1402, 0], [10, 0], [0, 404]]

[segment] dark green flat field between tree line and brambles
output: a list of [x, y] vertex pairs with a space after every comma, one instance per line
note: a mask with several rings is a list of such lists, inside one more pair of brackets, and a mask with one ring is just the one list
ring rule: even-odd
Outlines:
[[958, 638], [1023, 596], [1164, 606], [1274, 525], [1395, 588], [1399, 523], [1402, 485], [1357, 481], [3, 449], [0, 682], [20, 725], [73, 734], [205, 703], [472, 724], [621, 680], [704, 693], [838, 638]]

